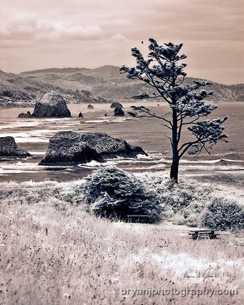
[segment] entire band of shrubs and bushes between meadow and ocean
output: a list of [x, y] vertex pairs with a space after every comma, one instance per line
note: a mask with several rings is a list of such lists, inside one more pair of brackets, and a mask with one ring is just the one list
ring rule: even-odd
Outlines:
[[244, 228], [244, 194], [235, 188], [199, 183], [191, 178], [172, 184], [166, 173], [128, 174], [116, 166], [102, 167], [72, 182], [26, 181], [2, 184], [0, 201], [11, 206], [48, 203], [58, 212], [75, 204], [90, 214], [128, 220], [150, 215], [178, 225], [214, 229]]

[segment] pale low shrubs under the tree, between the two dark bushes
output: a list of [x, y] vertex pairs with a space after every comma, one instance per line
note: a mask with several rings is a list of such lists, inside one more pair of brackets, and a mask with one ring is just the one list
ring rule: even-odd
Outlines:
[[142, 173], [136, 176], [159, 195], [163, 220], [177, 225], [201, 224], [202, 212], [214, 191], [211, 184], [197, 184], [192, 179], [180, 179], [179, 184], [174, 184], [166, 173]]

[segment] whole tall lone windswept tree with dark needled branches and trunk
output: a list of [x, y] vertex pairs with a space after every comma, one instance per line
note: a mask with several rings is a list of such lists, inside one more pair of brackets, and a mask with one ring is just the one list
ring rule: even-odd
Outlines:
[[[217, 106], [208, 104], [203, 100], [214, 92], [200, 89], [210, 86], [212, 82], [206, 80], [193, 80], [192, 84], [186, 83], [187, 74], [184, 71], [186, 64], [179, 63], [185, 59], [185, 54], [179, 54], [182, 44], [175, 45], [171, 42], [160, 46], [155, 39], [149, 39], [148, 58], [144, 59], [141, 52], [132, 48], [132, 56], [136, 58], [136, 67], [120, 67], [121, 73], [127, 73], [129, 79], [139, 79], [151, 86], [152, 94], [141, 94], [134, 99], [158, 99], [168, 103], [170, 112], [159, 116], [144, 106], [132, 106], [134, 112], [129, 112], [134, 117], [154, 117], [164, 121], [166, 128], [171, 130], [168, 137], [172, 146], [172, 165], [170, 177], [177, 183], [179, 159], [188, 151], [189, 154], [200, 154], [203, 149], [210, 155], [210, 149], [219, 140], [228, 142], [227, 134], [223, 133], [222, 124], [228, 118], [205, 119]], [[180, 136], [186, 128], [195, 136], [194, 140], [181, 143]]]

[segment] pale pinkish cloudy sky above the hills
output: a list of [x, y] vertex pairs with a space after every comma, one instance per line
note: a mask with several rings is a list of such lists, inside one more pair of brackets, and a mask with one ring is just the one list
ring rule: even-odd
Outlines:
[[242, 0], [1, 0], [0, 11], [5, 72], [132, 67], [131, 48], [146, 56], [151, 37], [183, 43], [189, 76], [244, 82]]

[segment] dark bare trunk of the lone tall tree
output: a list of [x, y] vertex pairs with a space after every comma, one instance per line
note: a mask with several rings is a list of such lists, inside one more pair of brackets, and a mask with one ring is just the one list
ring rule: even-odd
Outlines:
[[178, 168], [179, 168], [179, 153], [177, 142], [177, 113], [172, 111], [173, 126], [172, 126], [172, 165], [170, 170], [170, 178], [173, 182], [178, 183]]

